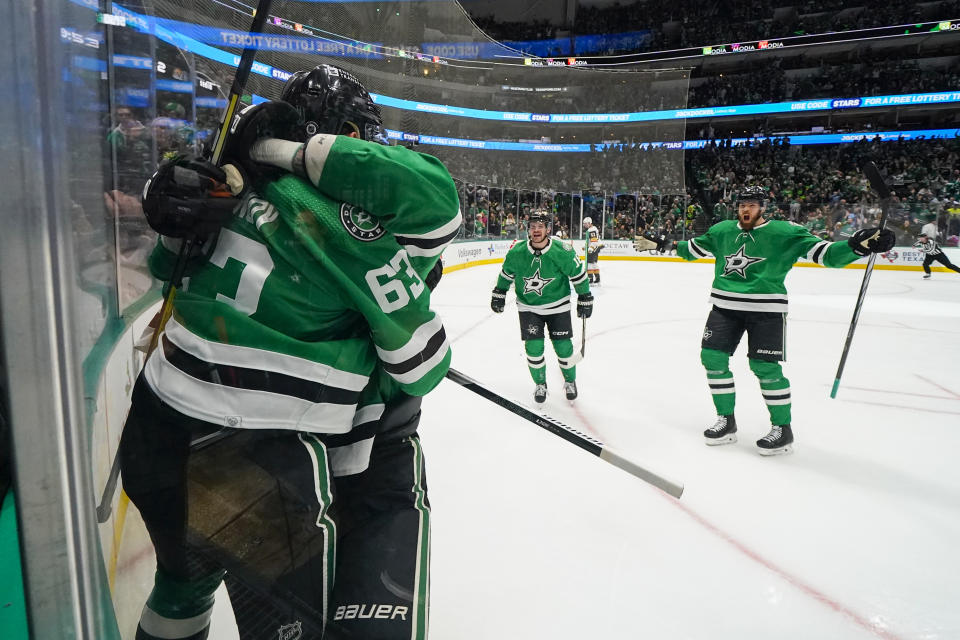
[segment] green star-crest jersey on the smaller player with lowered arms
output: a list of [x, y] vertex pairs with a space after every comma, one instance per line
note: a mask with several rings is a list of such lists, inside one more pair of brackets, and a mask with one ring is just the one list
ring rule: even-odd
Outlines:
[[590, 291], [586, 265], [572, 246], [556, 238], [539, 250], [529, 240], [516, 243], [497, 277], [498, 289], [514, 286], [517, 309], [540, 315], [569, 311], [571, 284], [578, 294]]

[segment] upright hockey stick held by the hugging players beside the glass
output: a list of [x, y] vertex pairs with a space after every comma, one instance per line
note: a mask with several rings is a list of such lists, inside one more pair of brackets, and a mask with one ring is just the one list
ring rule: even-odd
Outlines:
[[[273, 0], [260, 0], [253, 14], [253, 22], [250, 24], [250, 33], [260, 33], [263, 31], [263, 25], [266, 24], [267, 15], [270, 12], [270, 4]], [[240, 98], [243, 96], [243, 89], [247, 85], [247, 79], [250, 77], [250, 70], [253, 68], [253, 60], [257, 56], [257, 50], [253, 47], [244, 49], [240, 56], [240, 62], [237, 64], [237, 73], [233, 76], [233, 84], [230, 85], [230, 97], [227, 100], [227, 108], [223, 112], [223, 118], [220, 120], [220, 128], [213, 141], [210, 162], [215, 165], [220, 164], [223, 157], [223, 149], [227, 143], [227, 137], [230, 134], [230, 123], [233, 116], [237, 113], [240, 106]], [[190, 256], [193, 247], [197, 244], [196, 236], [187, 236], [180, 244], [180, 251], [177, 253], [177, 261], [174, 263], [173, 274], [170, 276], [170, 282], [167, 284], [163, 296], [163, 306], [160, 308], [160, 321], [154, 329], [153, 336], [150, 338], [150, 346], [147, 348], [147, 356], [153, 353], [160, 341], [160, 334], [163, 333], [167, 321], [173, 314], [173, 299], [177, 295], [177, 289], [183, 281], [183, 274], [187, 269], [187, 259]], [[146, 358], [144, 362], [146, 362]]]

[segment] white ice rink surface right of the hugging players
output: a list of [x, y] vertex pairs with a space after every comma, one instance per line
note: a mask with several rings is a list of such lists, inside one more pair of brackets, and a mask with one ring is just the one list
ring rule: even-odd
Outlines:
[[[543, 411], [683, 482], [679, 501], [449, 381], [420, 433], [432, 515], [431, 638], [960, 638], [960, 276], [876, 271], [837, 399], [859, 270], [794, 269], [796, 450], [769, 422], [746, 345], [740, 441], [703, 444], [699, 361], [712, 265], [602, 262], [569, 406], [547, 347]], [[453, 366], [533, 406], [499, 265], [444, 276]], [[579, 343], [579, 322], [576, 339]]]

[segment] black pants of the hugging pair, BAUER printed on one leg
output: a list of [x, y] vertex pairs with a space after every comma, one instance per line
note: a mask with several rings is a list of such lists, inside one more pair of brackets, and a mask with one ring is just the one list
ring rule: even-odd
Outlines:
[[141, 377], [120, 445], [124, 489], [157, 553], [137, 638], [205, 638], [224, 570], [242, 640], [426, 637], [419, 416], [416, 398], [388, 407], [366, 470], [334, 478], [327, 452], [342, 443], [220, 429]]

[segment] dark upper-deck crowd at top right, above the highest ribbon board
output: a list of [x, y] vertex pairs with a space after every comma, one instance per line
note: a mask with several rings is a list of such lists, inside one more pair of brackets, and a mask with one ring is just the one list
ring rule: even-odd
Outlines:
[[[652, 38], [646, 50], [661, 51], [952, 18], [960, 18], [960, 0], [924, 3], [868, 3], [863, 0], [807, 0], [798, 3], [777, 0], [644, 0], [617, 2], [608, 6], [579, 4], [573, 24], [567, 28], [574, 35], [649, 29]], [[557, 37], [559, 31], [557, 26], [543, 21], [499, 22], [492, 16], [474, 16], [473, 19], [497, 40], [546, 40]], [[635, 51], [609, 50], [593, 52], [593, 55], [622, 53]]]

